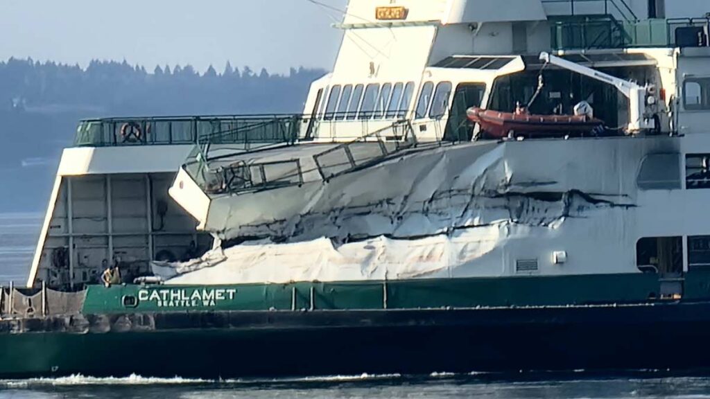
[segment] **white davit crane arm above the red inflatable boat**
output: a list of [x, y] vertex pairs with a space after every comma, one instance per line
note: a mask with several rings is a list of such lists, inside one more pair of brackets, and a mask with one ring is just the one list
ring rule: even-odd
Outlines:
[[627, 128], [629, 133], [639, 133], [640, 131], [652, 130], [660, 127], [656, 126], [657, 118], [654, 117], [654, 112], [647, 111], [647, 105], [648, 107], [652, 107], [656, 104], [656, 98], [654, 97], [655, 87], [648, 85], [645, 87], [640, 86], [634, 82], [619, 79], [618, 77], [607, 75], [606, 73], [599, 72], [598, 70], [593, 70], [591, 68], [575, 64], [574, 62], [563, 60], [562, 58], [555, 57], [555, 55], [551, 55], [550, 53], [540, 53], [540, 60], [616, 87], [616, 89], [618, 89], [621, 94], [626, 96], [629, 101], [629, 123]]

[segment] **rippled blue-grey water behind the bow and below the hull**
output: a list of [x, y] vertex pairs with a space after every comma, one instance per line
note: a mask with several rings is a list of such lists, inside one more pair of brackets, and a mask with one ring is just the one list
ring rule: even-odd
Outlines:
[[[40, 213], [0, 214], [0, 283], [26, 280], [40, 232]], [[204, 381], [184, 378], [0, 380], [0, 399], [45, 398], [382, 398], [382, 399], [710, 399], [710, 378], [664, 376], [658, 371], [598, 376], [569, 374], [496, 376], [433, 373], [430, 376], [328, 376], [279, 380]]]

